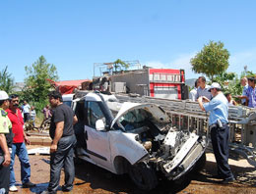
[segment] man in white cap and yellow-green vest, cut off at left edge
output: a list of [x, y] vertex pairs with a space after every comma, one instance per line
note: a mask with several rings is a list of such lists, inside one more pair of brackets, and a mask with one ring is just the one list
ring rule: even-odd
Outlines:
[[8, 148], [12, 147], [12, 123], [7, 117], [9, 108], [8, 94], [0, 90], [0, 193], [9, 193], [11, 156]]

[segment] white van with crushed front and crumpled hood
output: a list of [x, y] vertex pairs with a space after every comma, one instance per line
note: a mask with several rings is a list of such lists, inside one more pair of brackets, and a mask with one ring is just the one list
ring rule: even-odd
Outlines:
[[171, 127], [154, 104], [119, 103], [113, 95], [76, 99], [76, 156], [116, 174], [128, 173], [143, 190], [160, 177], [175, 180], [205, 160], [206, 138]]

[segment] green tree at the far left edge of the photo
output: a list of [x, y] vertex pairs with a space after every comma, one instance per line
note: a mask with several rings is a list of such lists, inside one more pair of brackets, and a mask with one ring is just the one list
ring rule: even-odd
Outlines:
[[14, 88], [14, 78], [11, 73], [7, 71], [8, 67], [6, 66], [2, 72], [0, 72], [0, 89], [11, 93]]

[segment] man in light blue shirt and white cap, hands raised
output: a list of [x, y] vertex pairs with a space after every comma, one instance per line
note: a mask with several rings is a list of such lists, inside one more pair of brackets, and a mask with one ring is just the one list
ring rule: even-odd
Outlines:
[[235, 179], [228, 165], [228, 102], [221, 89], [221, 85], [214, 82], [209, 89], [213, 99], [210, 101], [201, 96], [198, 103], [203, 111], [210, 112], [209, 128], [218, 169], [218, 174], [213, 177], [221, 178], [220, 183], [227, 184]]

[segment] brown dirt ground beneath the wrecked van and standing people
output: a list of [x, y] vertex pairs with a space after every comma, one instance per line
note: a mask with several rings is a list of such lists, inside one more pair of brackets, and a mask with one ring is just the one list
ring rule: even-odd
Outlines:
[[[29, 146], [29, 148], [34, 146]], [[28, 148], [28, 149], [29, 149]], [[49, 181], [49, 156], [30, 156], [32, 165], [32, 182], [36, 186], [29, 189], [21, 187], [20, 164], [16, 158], [15, 171], [17, 178], [18, 193], [40, 193], [45, 190]], [[81, 194], [211, 194], [211, 193], [256, 193], [256, 168], [249, 165], [246, 160], [232, 157], [229, 165], [233, 171], [236, 181], [231, 184], [221, 185], [217, 179], [211, 178], [211, 174], [216, 172], [214, 155], [207, 153], [207, 163], [205, 169], [200, 173], [189, 174], [186, 179], [180, 182], [162, 181], [160, 185], [151, 192], [138, 190], [127, 175], [115, 175], [107, 170], [100, 169], [94, 165], [82, 162], [76, 165], [76, 178], [74, 189], [69, 193]], [[61, 172], [61, 182], [63, 184], [64, 173]], [[12, 192], [11, 192], [12, 193]], [[58, 193], [63, 193], [61, 190]]]

